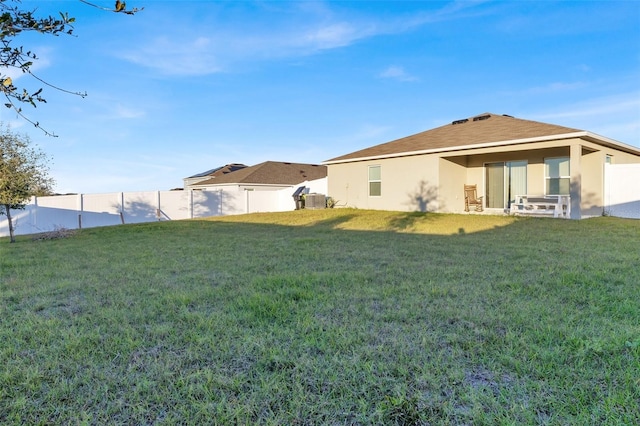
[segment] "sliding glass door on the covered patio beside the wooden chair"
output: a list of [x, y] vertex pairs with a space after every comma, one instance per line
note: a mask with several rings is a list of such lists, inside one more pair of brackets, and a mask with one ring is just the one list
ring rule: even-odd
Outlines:
[[527, 193], [527, 162], [485, 164], [485, 203], [490, 209], [509, 208], [516, 195]]

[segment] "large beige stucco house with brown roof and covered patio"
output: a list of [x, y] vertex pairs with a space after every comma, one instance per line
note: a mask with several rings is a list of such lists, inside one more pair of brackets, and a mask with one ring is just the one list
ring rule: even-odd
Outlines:
[[571, 218], [604, 213], [604, 166], [640, 163], [640, 148], [594, 133], [485, 113], [325, 161], [338, 205], [464, 212], [464, 185], [484, 211], [516, 195], [569, 195]]

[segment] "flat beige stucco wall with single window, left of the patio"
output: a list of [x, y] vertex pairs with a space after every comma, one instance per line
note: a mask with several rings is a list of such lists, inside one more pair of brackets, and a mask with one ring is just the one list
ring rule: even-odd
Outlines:
[[[369, 166], [379, 165], [381, 195], [369, 196]], [[438, 207], [435, 156], [412, 156], [332, 164], [328, 195], [338, 207], [373, 210], [435, 211]]]

